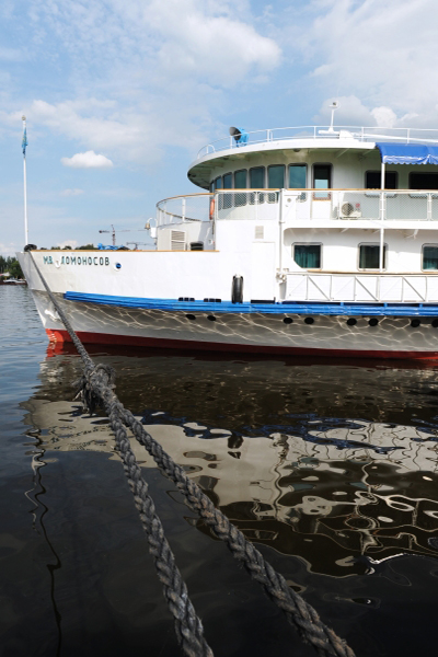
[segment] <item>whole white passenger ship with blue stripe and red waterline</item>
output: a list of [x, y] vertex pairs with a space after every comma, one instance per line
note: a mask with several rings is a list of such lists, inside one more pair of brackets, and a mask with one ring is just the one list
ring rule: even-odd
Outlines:
[[[205, 192], [158, 204], [154, 251], [32, 254], [84, 343], [437, 358], [436, 145], [233, 128], [189, 166]], [[18, 255], [50, 341], [69, 339]]]

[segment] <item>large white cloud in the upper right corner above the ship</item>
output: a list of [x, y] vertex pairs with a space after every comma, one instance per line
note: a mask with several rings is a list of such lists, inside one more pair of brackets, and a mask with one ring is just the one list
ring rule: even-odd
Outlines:
[[436, 124], [438, 53], [425, 46], [436, 38], [436, 0], [331, 0], [313, 11], [298, 48], [320, 90], [348, 91], [384, 127]]

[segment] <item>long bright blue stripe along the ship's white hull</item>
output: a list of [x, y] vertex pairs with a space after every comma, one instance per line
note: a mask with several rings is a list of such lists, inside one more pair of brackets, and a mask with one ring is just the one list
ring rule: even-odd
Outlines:
[[206, 301], [177, 301], [176, 299], [142, 299], [140, 297], [113, 297], [108, 295], [88, 295], [85, 292], [66, 292], [68, 301], [80, 301], [119, 308], [139, 308], [145, 310], [170, 310], [181, 312], [214, 313], [263, 313], [263, 314], [308, 314], [308, 315], [348, 315], [348, 316], [436, 316], [438, 303], [344, 303], [285, 301], [277, 303], [221, 303]]

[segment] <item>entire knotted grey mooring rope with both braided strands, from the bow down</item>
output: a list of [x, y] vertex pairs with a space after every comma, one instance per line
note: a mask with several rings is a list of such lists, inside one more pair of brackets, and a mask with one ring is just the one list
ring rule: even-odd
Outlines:
[[148, 535], [149, 550], [155, 558], [160, 580], [164, 584], [164, 595], [175, 619], [176, 634], [186, 654], [196, 657], [212, 655], [203, 637], [200, 620], [196, 616], [188, 599], [160, 519], [154, 512], [153, 502], [148, 494], [148, 485], [141, 477], [141, 470], [130, 448], [124, 424], [130, 428], [137, 440], [152, 456], [157, 465], [176, 484], [188, 506], [199, 514], [219, 539], [227, 543], [232, 555], [244, 564], [251, 577], [262, 585], [264, 591], [285, 612], [289, 623], [298, 630], [300, 636], [316, 649], [318, 655], [320, 657], [355, 657], [346, 642], [321, 621], [313, 607], [287, 585], [283, 575], [265, 561], [261, 552], [245, 539], [227, 516], [215, 507], [201, 488], [187, 477], [181, 465], [177, 465], [161, 445], [146, 431], [132, 413], [124, 407], [114, 393], [114, 370], [103, 365], [94, 366], [31, 252], [30, 256], [51, 303], [84, 362], [84, 372], [80, 383], [84, 406], [90, 413], [93, 413], [97, 405], [103, 405], [110, 417], [124, 470]]

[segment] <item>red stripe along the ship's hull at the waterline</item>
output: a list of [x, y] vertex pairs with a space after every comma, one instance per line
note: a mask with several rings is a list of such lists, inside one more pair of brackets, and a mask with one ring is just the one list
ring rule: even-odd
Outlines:
[[[71, 342], [67, 331], [46, 328], [50, 342]], [[239, 351], [241, 354], [295, 354], [297, 356], [326, 356], [335, 358], [414, 358], [420, 360], [438, 359], [438, 351], [385, 351], [385, 350], [354, 350], [354, 349], [309, 349], [301, 347], [272, 347], [265, 345], [237, 345], [191, 339], [160, 339], [138, 335], [114, 335], [110, 333], [87, 333], [78, 331], [78, 337], [84, 344], [123, 345], [129, 347], [159, 347], [163, 349], [191, 349], [203, 351]]]

